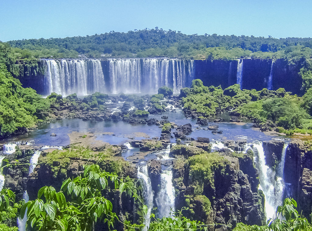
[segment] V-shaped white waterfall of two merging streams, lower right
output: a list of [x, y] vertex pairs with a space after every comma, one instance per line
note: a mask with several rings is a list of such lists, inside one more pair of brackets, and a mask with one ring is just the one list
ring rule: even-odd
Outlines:
[[247, 148], [250, 146], [253, 146], [253, 151], [257, 153], [257, 155], [254, 155], [254, 162], [259, 172], [259, 189], [263, 191], [265, 196], [266, 218], [273, 218], [276, 207], [282, 203], [284, 190], [283, 171], [288, 144], [284, 145], [281, 162], [276, 166], [277, 171], [266, 165], [262, 142], [256, 141], [255, 143], [246, 145]]

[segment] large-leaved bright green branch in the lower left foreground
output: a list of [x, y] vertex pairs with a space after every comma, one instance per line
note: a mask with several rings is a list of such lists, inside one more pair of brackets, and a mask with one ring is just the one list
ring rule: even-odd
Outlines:
[[27, 224], [36, 230], [92, 230], [97, 221], [113, 228], [119, 219], [112, 203], [101, 194], [111, 183], [120, 192], [127, 187], [115, 173], [102, 172], [98, 165], [85, 166], [83, 176], [63, 182], [63, 192], [42, 187], [36, 200], [23, 205], [21, 217], [27, 209]]

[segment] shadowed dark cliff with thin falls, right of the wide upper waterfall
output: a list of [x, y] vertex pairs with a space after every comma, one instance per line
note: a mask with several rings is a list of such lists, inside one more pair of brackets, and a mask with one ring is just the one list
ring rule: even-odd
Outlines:
[[[226, 88], [236, 84], [237, 60], [194, 60], [194, 76], [201, 79], [206, 86], [221, 85]], [[262, 90], [268, 88], [269, 76], [272, 74], [272, 90], [282, 87], [286, 91], [300, 94], [302, 79], [298, 72], [300, 67], [289, 65], [283, 59], [243, 59], [242, 88]]]

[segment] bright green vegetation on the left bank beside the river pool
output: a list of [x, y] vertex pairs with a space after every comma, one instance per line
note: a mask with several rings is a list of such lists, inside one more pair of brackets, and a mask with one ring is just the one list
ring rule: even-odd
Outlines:
[[35, 90], [23, 88], [0, 63], [0, 137], [35, 125], [44, 119], [48, 107], [47, 100]]

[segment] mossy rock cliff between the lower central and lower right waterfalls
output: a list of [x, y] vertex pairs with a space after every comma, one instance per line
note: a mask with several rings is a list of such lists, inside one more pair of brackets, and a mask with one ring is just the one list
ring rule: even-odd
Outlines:
[[[177, 148], [173, 151], [175, 155]], [[180, 150], [179, 156], [185, 156], [185, 148]], [[188, 160], [181, 158], [174, 165], [177, 209], [185, 206], [188, 217], [205, 223], [225, 223], [232, 227], [238, 222], [262, 225], [264, 198], [257, 189], [259, 180], [252, 152], [235, 157], [229, 152], [207, 154], [199, 148], [192, 150], [195, 155], [188, 154], [191, 156]], [[206, 159], [214, 164], [201, 165]], [[227, 229], [217, 226], [210, 230]]]

